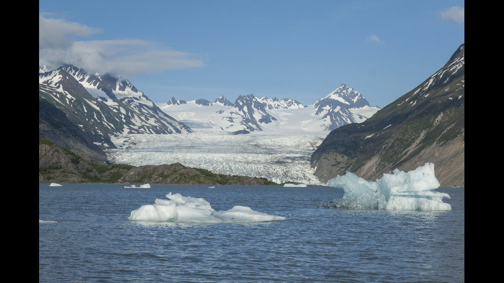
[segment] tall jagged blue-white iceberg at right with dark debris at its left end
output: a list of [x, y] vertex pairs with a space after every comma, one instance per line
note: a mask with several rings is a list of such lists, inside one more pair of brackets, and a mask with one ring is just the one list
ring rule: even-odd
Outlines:
[[434, 163], [409, 172], [395, 169], [392, 174], [384, 174], [376, 182], [347, 172], [329, 180], [329, 185], [343, 188], [343, 197], [320, 203], [318, 207], [338, 209], [379, 209], [379, 210], [451, 210], [443, 198], [448, 194], [436, 192], [439, 181], [434, 175]]

